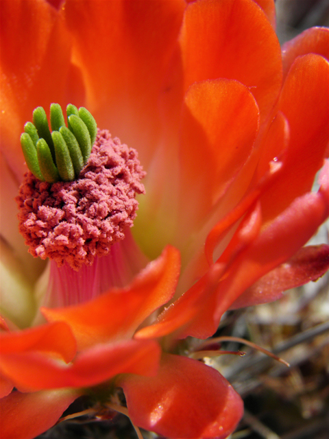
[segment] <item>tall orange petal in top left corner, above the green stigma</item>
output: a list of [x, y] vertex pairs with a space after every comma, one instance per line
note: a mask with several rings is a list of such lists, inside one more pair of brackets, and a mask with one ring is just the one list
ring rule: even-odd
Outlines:
[[[64, 23], [47, 1], [1, 1], [1, 150], [18, 180], [27, 170], [19, 141], [24, 123], [36, 106], [49, 111], [51, 102], [66, 106], [71, 97], [70, 49]], [[81, 91], [75, 105], [82, 100]]]

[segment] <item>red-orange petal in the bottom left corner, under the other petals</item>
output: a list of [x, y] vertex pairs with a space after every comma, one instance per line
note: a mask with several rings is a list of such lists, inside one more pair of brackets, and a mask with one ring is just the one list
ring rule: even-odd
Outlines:
[[34, 439], [52, 427], [78, 396], [73, 390], [12, 392], [0, 399], [1, 438]]

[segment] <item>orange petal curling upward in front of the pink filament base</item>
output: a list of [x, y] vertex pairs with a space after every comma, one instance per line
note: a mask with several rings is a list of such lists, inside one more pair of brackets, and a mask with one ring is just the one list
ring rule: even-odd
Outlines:
[[78, 350], [99, 342], [132, 337], [153, 311], [168, 302], [180, 274], [180, 254], [171, 246], [147, 265], [129, 287], [110, 289], [81, 305], [58, 309], [43, 308], [49, 321], [71, 327]]

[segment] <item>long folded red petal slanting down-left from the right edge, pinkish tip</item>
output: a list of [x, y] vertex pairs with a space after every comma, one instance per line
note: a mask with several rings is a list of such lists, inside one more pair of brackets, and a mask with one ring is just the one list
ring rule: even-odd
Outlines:
[[319, 192], [306, 193], [297, 198], [234, 261], [228, 277], [218, 289], [217, 324], [223, 312], [245, 289], [293, 257], [326, 220], [329, 215], [328, 167], [324, 168], [326, 175], [323, 174], [323, 185]]

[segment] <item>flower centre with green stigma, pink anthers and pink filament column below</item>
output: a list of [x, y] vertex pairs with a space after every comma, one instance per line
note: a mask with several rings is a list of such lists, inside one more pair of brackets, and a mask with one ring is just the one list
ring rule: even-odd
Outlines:
[[[34, 158], [38, 159], [41, 156], [38, 151], [44, 146], [43, 143], [47, 143], [48, 158], [46, 159], [45, 156], [43, 158], [51, 163], [42, 165], [40, 160], [38, 161], [40, 178], [35, 171], [36, 166], [25, 173], [16, 201], [19, 205], [19, 230], [25, 238], [25, 244], [29, 246], [29, 252], [34, 257], [51, 259], [48, 298], [49, 294], [51, 296], [55, 294], [56, 289], [61, 292], [62, 297], [58, 305], [68, 305], [72, 302], [88, 300], [110, 286], [122, 286], [118, 284], [125, 283], [128, 276], [114, 275], [113, 270], [110, 270], [106, 263], [112, 261], [112, 264], [117, 264], [113, 258], [116, 254], [121, 255], [119, 241], [128, 238], [125, 245], [126, 254], [131, 254], [131, 248], [136, 247], [128, 230], [133, 225], [138, 209], [136, 194], [145, 192], [141, 184], [145, 172], [135, 150], [122, 144], [119, 139], [113, 139], [108, 130], [95, 128], [93, 133], [93, 123], [90, 123], [90, 113], [86, 109], [80, 108], [75, 114], [76, 108], [68, 106], [66, 112], [69, 128], [66, 128], [62, 125], [64, 117], [61, 110], [58, 111], [57, 104], [52, 104], [52, 108], [56, 111], [51, 110], [51, 127], [56, 130], [50, 136], [45, 129], [41, 110], [37, 109], [41, 114], [41, 122], [37, 120], [39, 117], [37, 112], [34, 124], [25, 125], [23, 137], [26, 138], [26, 134], [33, 143], [36, 149], [36, 156], [33, 152]], [[34, 115], [35, 113], [36, 110]], [[83, 146], [88, 142], [81, 140], [79, 130], [74, 128], [75, 124], [81, 125], [80, 121], [77, 121], [79, 118], [81, 123], [85, 123], [85, 127], [88, 126], [84, 134], [88, 134], [89, 142], [93, 140], [95, 134], [91, 152], [88, 152], [88, 145]], [[82, 163], [83, 166], [78, 174], [80, 165], [75, 166], [76, 148], [67, 147], [69, 165], [66, 163], [58, 167], [60, 154], [56, 152], [58, 149], [56, 133], [60, 134], [66, 145], [63, 150], [70, 145], [72, 137], [75, 137], [77, 144], [80, 145], [82, 156], [80, 164]], [[47, 137], [47, 142], [40, 137], [40, 134]], [[51, 139], [53, 147], [48, 145]], [[73, 180], [56, 182], [51, 179], [46, 180], [45, 175], [50, 172], [51, 167], [64, 169], [71, 167], [70, 163], [73, 164]], [[48, 171], [44, 172], [43, 169]], [[58, 170], [58, 173], [60, 176], [63, 175], [63, 171]], [[117, 245], [112, 247], [116, 243]], [[109, 255], [110, 259], [105, 258], [106, 263], [100, 263], [98, 258], [106, 255]], [[95, 267], [91, 268], [90, 265], [94, 263], [96, 263]], [[82, 270], [84, 266], [86, 267]], [[138, 264], [138, 269], [140, 268]], [[80, 270], [82, 271], [79, 274], [74, 274]], [[99, 272], [108, 272], [108, 274], [99, 274]], [[70, 294], [71, 298], [66, 297]]]

